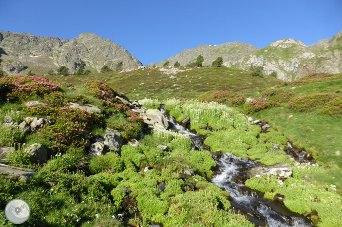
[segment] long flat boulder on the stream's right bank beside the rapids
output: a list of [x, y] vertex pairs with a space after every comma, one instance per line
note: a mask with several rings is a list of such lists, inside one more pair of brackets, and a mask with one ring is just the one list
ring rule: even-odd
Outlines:
[[281, 179], [290, 178], [292, 175], [292, 168], [288, 163], [277, 163], [269, 166], [257, 166], [251, 168], [247, 172], [246, 177], [264, 177], [269, 175], [275, 175]]

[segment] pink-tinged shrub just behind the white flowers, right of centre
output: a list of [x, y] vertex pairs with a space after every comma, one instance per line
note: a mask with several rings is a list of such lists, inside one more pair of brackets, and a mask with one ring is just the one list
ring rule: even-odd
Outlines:
[[243, 94], [235, 93], [229, 90], [213, 90], [207, 91], [197, 98], [197, 100], [202, 102], [218, 102], [226, 103], [232, 106], [239, 106], [244, 103], [246, 97]]

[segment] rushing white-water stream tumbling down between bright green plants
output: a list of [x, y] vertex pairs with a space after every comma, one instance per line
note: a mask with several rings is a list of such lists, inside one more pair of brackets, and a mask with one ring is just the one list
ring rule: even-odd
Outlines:
[[[169, 130], [180, 131], [189, 135], [193, 144], [197, 147], [208, 149], [204, 146], [204, 139], [194, 131], [184, 128], [175, 118], [169, 116], [168, 111], [161, 108], [168, 120]], [[292, 148], [292, 147], [291, 147]], [[253, 191], [244, 185], [245, 175], [249, 168], [260, 165], [259, 162], [248, 158], [239, 158], [229, 153], [212, 153], [217, 164], [214, 176], [208, 179], [217, 184], [222, 190], [230, 193], [232, 197], [232, 210], [244, 215], [256, 226], [288, 227], [288, 226], [312, 226], [305, 217], [291, 212], [282, 202], [263, 199], [260, 192]]]

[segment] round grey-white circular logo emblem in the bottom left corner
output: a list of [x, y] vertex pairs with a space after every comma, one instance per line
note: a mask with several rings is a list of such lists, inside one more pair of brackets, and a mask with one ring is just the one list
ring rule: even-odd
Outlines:
[[24, 223], [30, 214], [30, 206], [23, 199], [12, 199], [5, 207], [6, 218], [13, 224]]

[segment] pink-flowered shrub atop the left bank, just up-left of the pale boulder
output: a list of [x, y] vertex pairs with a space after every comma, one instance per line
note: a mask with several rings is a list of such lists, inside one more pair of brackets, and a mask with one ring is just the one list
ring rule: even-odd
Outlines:
[[113, 90], [108, 84], [102, 83], [101, 81], [87, 81], [84, 87], [93, 97], [106, 101], [115, 102], [116, 96], [121, 97], [119, 90]]

